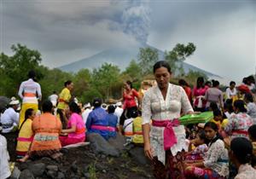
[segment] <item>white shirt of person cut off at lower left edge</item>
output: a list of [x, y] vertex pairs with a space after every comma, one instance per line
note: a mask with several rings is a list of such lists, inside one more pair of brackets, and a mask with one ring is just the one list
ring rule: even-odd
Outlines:
[[11, 175], [8, 161], [7, 141], [4, 136], [0, 135], [0, 179], [8, 178]]

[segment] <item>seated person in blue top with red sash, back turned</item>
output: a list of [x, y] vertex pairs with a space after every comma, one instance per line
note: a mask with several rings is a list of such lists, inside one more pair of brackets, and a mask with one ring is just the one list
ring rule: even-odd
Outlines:
[[99, 98], [93, 101], [93, 111], [89, 113], [86, 121], [87, 134], [98, 133], [108, 140], [108, 113], [101, 107], [102, 100]]

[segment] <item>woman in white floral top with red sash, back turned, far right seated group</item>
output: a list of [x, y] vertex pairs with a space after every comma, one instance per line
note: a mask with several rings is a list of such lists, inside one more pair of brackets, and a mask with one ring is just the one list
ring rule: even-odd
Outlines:
[[234, 111], [229, 118], [229, 123], [224, 127], [224, 131], [231, 139], [237, 136], [248, 137], [247, 130], [253, 125], [253, 119], [247, 114], [244, 101], [234, 102]]

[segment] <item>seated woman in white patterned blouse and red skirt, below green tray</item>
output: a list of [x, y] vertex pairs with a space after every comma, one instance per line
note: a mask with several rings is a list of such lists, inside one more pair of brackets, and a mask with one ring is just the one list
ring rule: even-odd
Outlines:
[[195, 163], [185, 163], [185, 176], [188, 178], [227, 178], [229, 176], [228, 151], [218, 134], [218, 126], [208, 122], [204, 126], [204, 131], [209, 140], [206, 157]]

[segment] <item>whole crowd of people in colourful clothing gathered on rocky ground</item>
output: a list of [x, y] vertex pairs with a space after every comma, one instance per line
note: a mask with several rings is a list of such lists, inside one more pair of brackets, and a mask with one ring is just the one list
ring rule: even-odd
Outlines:
[[[236, 178], [256, 175], [255, 79], [249, 76], [226, 90], [217, 80], [197, 78], [194, 89], [184, 79], [171, 84], [171, 66], [154, 64], [154, 84], [142, 90], [125, 81], [122, 99], [105, 104], [96, 98], [84, 106], [72, 94], [74, 84], [67, 80], [42, 102], [36, 72], [20, 84], [18, 95], [1, 114], [0, 179], [10, 176], [6, 137], [17, 134], [17, 161], [50, 157], [60, 159], [61, 147], [86, 141], [97, 133], [105, 140], [122, 135], [144, 146], [156, 178]], [[206, 123], [183, 125], [183, 115], [212, 112]]]

